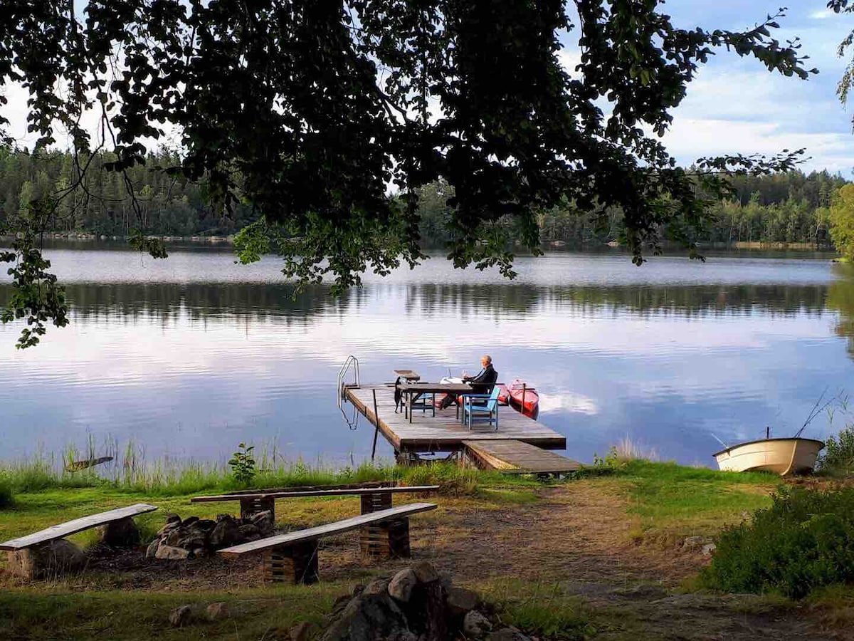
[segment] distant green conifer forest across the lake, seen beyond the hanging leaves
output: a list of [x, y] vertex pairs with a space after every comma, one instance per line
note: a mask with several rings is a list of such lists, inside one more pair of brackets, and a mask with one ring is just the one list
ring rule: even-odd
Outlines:
[[[158, 168], [178, 164], [167, 152], [149, 155], [145, 166], [128, 170], [142, 220], [132, 208], [124, 179], [103, 169], [112, 156], [99, 152], [91, 158], [84, 189], [64, 198], [53, 232], [88, 232], [125, 236], [134, 228], [165, 236], [221, 236], [237, 232], [254, 218], [249, 205], [238, 204], [225, 215], [208, 202], [204, 185], [182, 182]], [[80, 164], [90, 162], [79, 159]], [[66, 191], [77, 179], [73, 156], [62, 151], [0, 147], [0, 224], [35, 198]], [[778, 173], [760, 177], [736, 177], [732, 200], [712, 204], [714, 223], [696, 238], [699, 243], [762, 242], [809, 243], [830, 247], [828, 207], [834, 191], [847, 181], [826, 171]], [[421, 188], [421, 235], [424, 244], [442, 244], [448, 238], [447, 197], [451, 188], [442, 182]], [[543, 243], [570, 245], [618, 241], [623, 214], [618, 209], [599, 216], [578, 212], [567, 205], [539, 215]]]

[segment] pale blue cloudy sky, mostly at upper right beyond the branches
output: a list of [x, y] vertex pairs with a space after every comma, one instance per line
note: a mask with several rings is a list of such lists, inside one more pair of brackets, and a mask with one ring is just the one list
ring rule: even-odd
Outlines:
[[[742, 31], [775, 14], [782, 0], [669, 0], [661, 10], [682, 28], [702, 26]], [[809, 80], [769, 73], [760, 62], [725, 50], [712, 56], [688, 86], [687, 97], [673, 112], [674, 122], [664, 144], [678, 162], [690, 164], [702, 156], [763, 153], [806, 149], [804, 171], [828, 169], [854, 179], [854, 133], [851, 116], [836, 97], [845, 59], [836, 55], [839, 42], [854, 29], [854, 15], [835, 15], [826, 0], [787, 0], [790, 8], [772, 35], [781, 42], [799, 37], [807, 67], [819, 74]], [[577, 33], [577, 32], [573, 32]], [[561, 60], [572, 68], [578, 51], [571, 41]], [[851, 59], [850, 56], [848, 58]], [[32, 146], [26, 133], [26, 93], [6, 89], [12, 135]], [[60, 141], [62, 144], [62, 141]]]

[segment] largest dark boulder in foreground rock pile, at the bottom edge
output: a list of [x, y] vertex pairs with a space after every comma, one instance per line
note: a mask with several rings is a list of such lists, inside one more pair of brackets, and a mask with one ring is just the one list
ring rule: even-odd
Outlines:
[[407, 618], [387, 594], [362, 594], [344, 609], [323, 641], [417, 641]]

